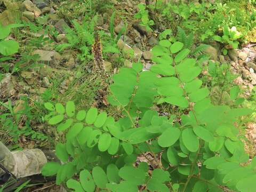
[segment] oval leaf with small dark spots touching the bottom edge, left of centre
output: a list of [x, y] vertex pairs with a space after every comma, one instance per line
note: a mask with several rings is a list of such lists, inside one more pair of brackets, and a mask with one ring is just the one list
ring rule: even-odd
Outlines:
[[91, 173], [88, 170], [83, 170], [79, 173], [79, 180], [86, 192], [94, 192], [95, 183], [92, 179]]

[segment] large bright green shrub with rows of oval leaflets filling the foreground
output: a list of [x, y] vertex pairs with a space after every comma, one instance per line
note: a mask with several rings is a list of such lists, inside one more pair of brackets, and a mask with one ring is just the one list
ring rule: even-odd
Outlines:
[[[113, 76], [108, 101], [117, 121], [93, 107], [76, 111], [73, 101], [45, 103], [45, 119], [66, 137], [56, 146], [63, 164], [47, 163], [42, 173], [74, 191], [253, 191], [256, 158], [249, 161], [239, 131], [252, 110], [213, 105], [183, 43], [164, 39], [152, 51], [150, 71], [134, 63]], [[184, 114], [159, 116], [151, 107], [163, 102]]]

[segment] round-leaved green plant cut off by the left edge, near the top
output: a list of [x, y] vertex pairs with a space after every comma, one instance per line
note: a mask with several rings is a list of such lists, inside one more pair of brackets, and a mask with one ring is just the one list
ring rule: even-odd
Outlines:
[[[16, 27], [23, 27], [22, 24], [11, 24], [8, 26], [1, 26], [0, 25], [0, 54], [4, 56], [9, 56], [14, 53], [17, 53], [19, 50], [19, 43], [16, 41], [9, 39], [6, 40], [5, 38], [8, 37], [11, 34], [11, 29]], [[9, 57], [7, 59], [10, 59]], [[3, 61], [3, 58], [1, 58]]]

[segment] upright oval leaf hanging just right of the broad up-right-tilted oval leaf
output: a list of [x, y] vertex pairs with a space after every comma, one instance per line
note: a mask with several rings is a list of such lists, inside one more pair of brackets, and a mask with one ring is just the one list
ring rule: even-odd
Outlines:
[[191, 128], [182, 131], [182, 141], [191, 152], [196, 152], [199, 148], [199, 140]]

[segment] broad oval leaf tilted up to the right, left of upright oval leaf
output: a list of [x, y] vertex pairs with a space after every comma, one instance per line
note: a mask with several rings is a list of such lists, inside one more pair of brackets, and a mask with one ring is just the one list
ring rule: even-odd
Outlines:
[[180, 137], [180, 130], [177, 127], [167, 128], [158, 138], [158, 145], [161, 147], [170, 147]]

